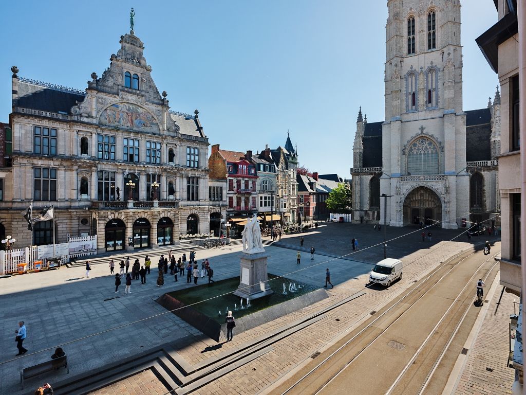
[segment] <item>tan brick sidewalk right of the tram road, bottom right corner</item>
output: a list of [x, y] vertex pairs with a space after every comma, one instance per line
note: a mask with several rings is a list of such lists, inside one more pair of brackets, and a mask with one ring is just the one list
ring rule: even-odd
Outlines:
[[[502, 287], [497, 287], [490, 307], [484, 314], [480, 331], [469, 350], [467, 361], [458, 381], [455, 395], [511, 393], [515, 370], [507, 367], [509, 354], [510, 314], [519, 311], [519, 297], [504, 292], [497, 302]], [[514, 303], [513, 302], [517, 302]], [[490, 370], [488, 370], [490, 369]]]

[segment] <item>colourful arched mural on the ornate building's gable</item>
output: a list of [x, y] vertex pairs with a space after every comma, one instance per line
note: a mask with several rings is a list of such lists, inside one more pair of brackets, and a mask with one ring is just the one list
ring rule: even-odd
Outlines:
[[100, 114], [99, 124], [125, 127], [140, 132], [159, 132], [155, 118], [144, 108], [131, 103], [110, 105]]

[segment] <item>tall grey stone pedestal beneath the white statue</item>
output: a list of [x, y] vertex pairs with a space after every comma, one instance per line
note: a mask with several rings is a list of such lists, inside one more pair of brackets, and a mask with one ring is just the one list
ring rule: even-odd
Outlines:
[[239, 287], [234, 295], [240, 298], [257, 298], [270, 295], [272, 292], [268, 283], [266, 252], [255, 254], [242, 253], [241, 272], [239, 275]]

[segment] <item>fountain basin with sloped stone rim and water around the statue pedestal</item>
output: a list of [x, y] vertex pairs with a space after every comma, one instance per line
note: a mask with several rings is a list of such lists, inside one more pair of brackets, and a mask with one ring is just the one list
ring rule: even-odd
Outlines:
[[[292, 280], [268, 274], [270, 287], [281, 289], [283, 282]], [[216, 281], [213, 284], [197, 285], [179, 291], [168, 292], [157, 299], [168, 310], [206, 334], [215, 341], [225, 339], [226, 314], [228, 307], [236, 319], [235, 333], [241, 333], [255, 328], [266, 322], [275, 320], [283, 315], [300, 310], [312, 303], [329, 297], [325, 289], [304, 284], [305, 287], [296, 292], [274, 292], [264, 297], [250, 300], [250, 307], [234, 311], [234, 304], [239, 297], [234, 295], [238, 288], [239, 277]], [[218, 312], [221, 311], [221, 317]]]

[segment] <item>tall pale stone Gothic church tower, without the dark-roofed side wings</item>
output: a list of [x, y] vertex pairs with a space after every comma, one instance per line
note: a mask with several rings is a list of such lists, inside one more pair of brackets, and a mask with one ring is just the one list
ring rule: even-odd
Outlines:
[[[459, 0], [388, 0], [381, 193], [391, 226], [469, 218]], [[381, 219], [386, 208], [381, 199]]]

